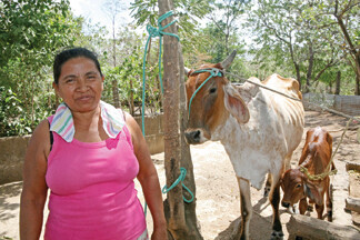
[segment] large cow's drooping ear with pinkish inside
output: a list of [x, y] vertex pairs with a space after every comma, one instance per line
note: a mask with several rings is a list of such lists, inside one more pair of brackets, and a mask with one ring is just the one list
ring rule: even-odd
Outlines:
[[238, 122], [247, 123], [250, 119], [250, 113], [239, 92], [232, 88], [231, 84], [226, 84], [223, 91], [226, 109], [238, 120]]

